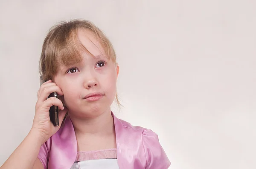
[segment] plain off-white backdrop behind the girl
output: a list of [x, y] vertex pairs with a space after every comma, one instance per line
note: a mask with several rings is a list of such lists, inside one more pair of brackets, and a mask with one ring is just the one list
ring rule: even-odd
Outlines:
[[93, 21], [118, 55], [117, 117], [171, 169], [255, 169], [255, 0], [1, 0], [0, 165], [32, 126], [48, 29]]

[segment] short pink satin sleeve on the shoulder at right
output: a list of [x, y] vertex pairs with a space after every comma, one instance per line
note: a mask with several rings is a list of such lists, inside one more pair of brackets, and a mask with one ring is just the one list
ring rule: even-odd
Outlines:
[[168, 169], [171, 162], [159, 143], [158, 135], [146, 129], [142, 137], [147, 163], [145, 169]]

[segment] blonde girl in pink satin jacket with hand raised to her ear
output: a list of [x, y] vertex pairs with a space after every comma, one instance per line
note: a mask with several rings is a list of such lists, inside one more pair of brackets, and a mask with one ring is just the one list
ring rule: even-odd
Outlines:
[[[47, 34], [32, 129], [1, 169], [167, 169], [157, 134], [111, 112], [119, 65], [108, 38], [87, 20]], [[57, 92], [58, 98], [47, 97]], [[58, 106], [58, 127], [49, 108]], [[68, 112], [68, 113], [67, 113]]]

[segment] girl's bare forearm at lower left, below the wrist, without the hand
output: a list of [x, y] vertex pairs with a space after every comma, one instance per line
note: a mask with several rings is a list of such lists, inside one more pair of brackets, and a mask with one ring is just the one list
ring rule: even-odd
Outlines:
[[[37, 158], [42, 138], [36, 131], [30, 131], [0, 169], [44, 169]], [[21, 165], [22, 164], [22, 165]]]

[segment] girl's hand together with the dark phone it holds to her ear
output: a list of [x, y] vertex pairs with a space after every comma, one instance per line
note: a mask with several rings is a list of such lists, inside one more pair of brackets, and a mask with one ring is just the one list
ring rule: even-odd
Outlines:
[[53, 83], [52, 80], [41, 82], [38, 100], [35, 104], [32, 130], [39, 133], [40, 140], [38, 141], [42, 141], [42, 143], [58, 131], [67, 113], [67, 108], [64, 108], [57, 95], [61, 96], [63, 92], [56, 83]]

